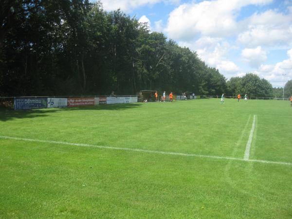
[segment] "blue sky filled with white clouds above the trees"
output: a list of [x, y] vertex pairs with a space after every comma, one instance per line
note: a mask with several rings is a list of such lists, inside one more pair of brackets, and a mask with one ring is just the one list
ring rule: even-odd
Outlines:
[[292, 0], [101, 0], [197, 52], [227, 79], [292, 80]]

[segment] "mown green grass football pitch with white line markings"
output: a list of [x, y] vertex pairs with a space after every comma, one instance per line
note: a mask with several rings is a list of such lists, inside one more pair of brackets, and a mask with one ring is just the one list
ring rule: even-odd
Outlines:
[[288, 101], [1, 110], [0, 218], [291, 219], [291, 132]]

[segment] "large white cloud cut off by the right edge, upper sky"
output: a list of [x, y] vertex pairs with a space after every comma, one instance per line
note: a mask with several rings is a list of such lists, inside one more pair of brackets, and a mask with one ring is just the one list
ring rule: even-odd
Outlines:
[[292, 12], [288, 15], [272, 10], [256, 13], [242, 21], [241, 26], [244, 31], [238, 35], [237, 40], [249, 47], [292, 46]]

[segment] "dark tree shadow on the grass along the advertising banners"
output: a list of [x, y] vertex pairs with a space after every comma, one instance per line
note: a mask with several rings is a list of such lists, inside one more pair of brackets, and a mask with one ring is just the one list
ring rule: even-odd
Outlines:
[[130, 104], [109, 104], [98, 106], [84, 106], [84, 107], [66, 107], [66, 108], [45, 108], [35, 110], [12, 110], [0, 108], [0, 121], [8, 121], [21, 118], [35, 118], [45, 117], [54, 114], [56, 111], [72, 111], [72, 110], [128, 110], [132, 108], [141, 107], [142, 103], [130, 103]]

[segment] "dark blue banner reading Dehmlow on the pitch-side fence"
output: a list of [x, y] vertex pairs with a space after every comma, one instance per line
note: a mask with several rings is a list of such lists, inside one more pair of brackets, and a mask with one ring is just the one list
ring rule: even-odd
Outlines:
[[15, 98], [14, 110], [29, 110], [48, 107], [48, 98]]

